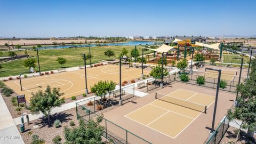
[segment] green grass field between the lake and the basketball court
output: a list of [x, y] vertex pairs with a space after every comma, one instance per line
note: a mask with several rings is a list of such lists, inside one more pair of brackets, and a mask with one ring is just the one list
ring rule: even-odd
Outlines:
[[[108, 60], [108, 57], [104, 55], [104, 52], [107, 49], [113, 50], [116, 55], [115, 57], [110, 57], [110, 59], [111, 58], [117, 59], [119, 57], [119, 54], [121, 54], [121, 51], [123, 48], [126, 48], [126, 50], [129, 51], [127, 56], [130, 56], [131, 50], [134, 49], [134, 46], [91, 47], [91, 54], [93, 55], [93, 58], [91, 59], [91, 61], [92, 63], [97, 63], [99, 62], [99, 60]], [[139, 50], [139, 53], [142, 54], [141, 49], [138, 49], [137, 47], [137, 50]], [[24, 54], [25, 51], [15, 51], [15, 52], [17, 54]], [[34, 59], [36, 59], [37, 61], [36, 51], [27, 51], [27, 52], [29, 55], [33, 55]], [[89, 53], [89, 47], [83, 47], [83, 48], [77, 48], [77, 49], [39, 50], [38, 52], [39, 52], [39, 61], [40, 61], [41, 71], [46, 71], [46, 70], [59, 69], [61, 67], [61, 65], [56, 61], [58, 57], [64, 57], [67, 59], [67, 63], [65, 63], [64, 65], [64, 67], [66, 68], [84, 65], [81, 54]], [[7, 52], [4, 52], [3, 54], [7, 55]], [[24, 71], [28, 71], [29, 68], [26, 68], [23, 66], [23, 61], [25, 60], [26, 59], [19, 59], [19, 60], [2, 63], [3, 68], [0, 69], [0, 77], [19, 75]], [[89, 60], [87, 60], [86, 63], [89, 63]], [[38, 70], [38, 67], [36, 67], [35, 70]]]

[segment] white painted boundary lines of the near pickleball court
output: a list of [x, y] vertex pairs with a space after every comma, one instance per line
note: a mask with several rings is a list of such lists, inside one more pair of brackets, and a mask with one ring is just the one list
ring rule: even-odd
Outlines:
[[[177, 89], [177, 90], [175, 90], [175, 91], [178, 91], [178, 90], [185, 90], [185, 89]], [[175, 91], [173, 91], [173, 92], [175, 92]], [[185, 91], [190, 91], [190, 90], [185, 90]], [[171, 94], [171, 93], [173, 93], [173, 92], [170, 92], [170, 93], [168, 93], [168, 94], [163, 94], [163, 95], [169, 95], [169, 94]], [[195, 91], [191, 91], [191, 92], [195, 92]], [[198, 93], [198, 92], [196, 92], [196, 94], [197, 94], [197, 93]], [[162, 94], [162, 93], [160, 93], [160, 94]], [[195, 94], [194, 94], [194, 95], [195, 95]], [[193, 96], [194, 96], [194, 95], [193, 95]], [[209, 94], [205, 94], [205, 95], [208, 95], [208, 96], [210, 96], [210, 97], [214, 97], [214, 96], [209, 95]], [[168, 96], [167, 96], [167, 97], [168, 97]], [[191, 98], [191, 97], [190, 97], [190, 98]], [[154, 100], [154, 101], [157, 101], [157, 100]], [[193, 123], [193, 122], [195, 121], [195, 119], [197, 119], [197, 118], [202, 114], [202, 113], [200, 113], [200, 114], [199, 114], [198, 116], [196, 116], [195, 118], [192, 118], [192, 117], [189, 117], [189, 116], [186, 116], [186, 115], [179, 114], [179, 113], [177, 113], [177, 112], [175, 112], [175, 111], [172, 111], [172, 110], [169, 110], [169, 109], [165, 109], [165, 108], [162, 108], [162, 107], [158, 107], [158, 106], [152, 105], [151, 103], [153, 103], [154, 101], [148, 103], [148, 104], [145, 105], [145, 106], [142, 106], [142, 107], [140, 107], [140, 108], [138, 108], [138, 109], [135, 109], [135, 110], [131, 111], [130, 113], [124, 115], [124, 117], [129, 118], [129, 119], [131, 119], [132, 121], [137, 122], [137, 123], [139, 123], [139, 124], [141, 124], [141, 125], [144, 125], [144, 126], [148, 127], [149, 129], [152, 129], [152, 130], [154, 130], [154, 131], [157, 131], [157, 132], [159, 132], [159, 133], [162, 133], [162, 134], [166, 135], [167, 137], [170, 137], [170, 138], [172, 138], [172, 139], [175, 139], [175, 138], [177, 138], [177, 137], [179, 136], [179, 134], [182, 133], [191, 123]], [[215, 102], [215, 100], [214, 100], [212, 103], [214, 103], [214, 102]], [[210, 107], [210, 106], [212, 105], [212, 103], [211, 103], [209, 106], [207, 106], [207, 108]], [[142, 123], [140, 123], [140, 122], [138, 122], [138, 121], [136, 121], [136, 120], [134, 120], [134, 119], [132, 119], [132, 118], [130, 118], [130, 117], [127, 117], [127, 115], [129, 115], [129, 114], [133, 113], [134, 111], [137, 111], [137, 110], [139, 110], [139, 109], [141, 109], [141, 108], [143, 108], [143, 107], [146, 107], [146, 106], [148, 106], [148, 105], [165, 109], [165, 110], [167, 110], [166, 113], [171, 112], [171, 113], [175, 113], [175, 114], [178, 114], [178, 115], [181, 115], [181, 116], [185, 116], [185, 117], [191, 118], [191, 119], [193, 119], [193, 121], [191, 121], [186, 127], [184, 127], [184, 129], [182, 129], [175, 137], [171, 137], [170, 135], [167, 135], [167, 134], [165, 134], [165, 133], [163, 133], [163, 132], [160, 132], [160, 131], [155, 130], [155, 129], [153, 129], [152, 127], [149, 127], [149, 126], [148, 126], [149, 124], [155, 122], [157, 119], [159, 119], [159, 118], [161, 118], [162, 116], [164, 116], [166, 113], [163, 114], [163, 115], [161, 115], [161, 116], [159, 116], [159, 117], [156, 118], [153, 122], [150, 122], [148, 125], [142, 124]]]

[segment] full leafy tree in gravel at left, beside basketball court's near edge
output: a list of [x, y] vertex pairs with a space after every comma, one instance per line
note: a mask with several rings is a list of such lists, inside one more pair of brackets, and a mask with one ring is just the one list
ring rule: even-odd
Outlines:
[[60, 88], [51, 89], [48, 85], [43, 92], [39, 90], [38, 92], [32, 92], [32, 97], [30, 98], [29, 110], [32, 114], [39, 114], [42, 112], [48, 117], [48, 122], [50, 122], [51, 110], [55, 107], [61, 107], [62, 103], [65, 102], [64, 98], [60, 97], [64, 93], [60, 93]]

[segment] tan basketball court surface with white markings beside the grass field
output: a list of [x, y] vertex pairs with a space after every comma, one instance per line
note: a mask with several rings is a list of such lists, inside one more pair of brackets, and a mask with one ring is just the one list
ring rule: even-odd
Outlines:
[[[87, 68], [86, 70], [87, 87], [89, 91], [90, 87], [100, 80], [111, 80], [116, 83], [119, 82], [119, 66], [117, 65], [93, 67]], [[144, 69], [143, 73], [148, 75], [149, 71]], [[141, 77], [140, 68], [129, 69], [127, 67], [122, 67], [122, 81], [129, 81], [138, 77]], [[19, 80], [5, 82], [5, 84], [11, 87], [11, 89], [18, 94], [25, 94], [26, 100], [30, 99], [31, 92], [44, 90], [47, 85], [50, 85], [51, 87], [60, 87], [60, 92], [65, 93], [63, 97], [70, 98], [73, 95], [79, 95], [85, 92], [85, 75], [84, 69], [80, 69], [51, 75], [22, 78], [23, 91], [20, 90]]]

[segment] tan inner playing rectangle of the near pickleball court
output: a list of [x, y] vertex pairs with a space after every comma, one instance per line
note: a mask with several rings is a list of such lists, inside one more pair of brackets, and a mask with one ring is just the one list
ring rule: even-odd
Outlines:
[[[201, 106], [209, 107], [215, 99], [212, 95], [184, 89], [178, 89], [167, 95], [158, 95], [161, 95], [161, 98], [132, 111], [125, 117], [173, 139], [202, 114], [201, 111], [204, 111], [204, 107], [201, 109]], [[179, 103], [185, 102], [183, 106], [186, 107], [166, 102], [169, 100], [178, 100]]]

